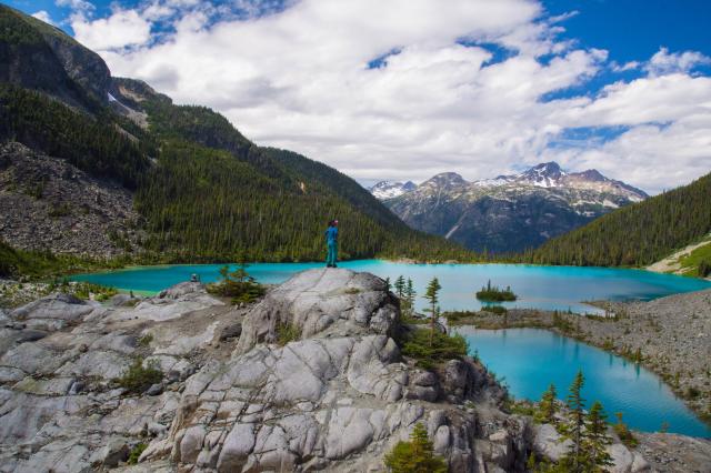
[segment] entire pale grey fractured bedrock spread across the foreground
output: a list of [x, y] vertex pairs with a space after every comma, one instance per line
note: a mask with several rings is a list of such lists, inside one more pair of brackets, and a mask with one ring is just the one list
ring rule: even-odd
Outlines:
[[[383, 471], [418, 422], [451, 471], [518, 472], [531, 451], [562, 452], [554, 431], [499, 409], [477, 362], [427, 371], [402, 358], [398, 315], [382, 280], [347, 270], [298, 274], [244, 309], [182, 283], [0, 312], [0, 471], [109, 469], [139, 444], [133, 472]], [[301, 334], [280, 345], [284, 324]], [[129, 393], [112, 380], [139, 355], [163, 380]], [[649, 445], [683, 446], [690, 463], [674, 471], [693, 471], [711, 445], [684, 439]], [[612, 471], [649, 471], [642, 453], [611, 449]]]

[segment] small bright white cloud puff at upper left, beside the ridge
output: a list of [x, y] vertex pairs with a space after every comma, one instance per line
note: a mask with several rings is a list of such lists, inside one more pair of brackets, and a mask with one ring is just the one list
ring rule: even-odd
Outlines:
[[116, 10], [109, 18], [93, 21], [78, 14], [71, 28], [77, 40], [97, 51], [144, 44], [151, 33], [151, 23], [136, 10]]

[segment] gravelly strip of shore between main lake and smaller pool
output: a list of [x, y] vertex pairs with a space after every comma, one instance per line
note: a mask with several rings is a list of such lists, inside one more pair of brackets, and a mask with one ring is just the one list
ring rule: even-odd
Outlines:
[[[688, 304], [708, 301], [711, 304], [711, 291], [675, 294], [650, 302], [608, 302], [604, 304], [611, 315], [608, 319], [515, 309], [505, 315], [477, 312], [477, 315], [450, 322], [449, 325], [473, 326], [478, 330], [542, 329], [595, 346], [657, 374], [701, 421], [711, 425], [711, 371], [704, 363], [711, 359], [709, 334], [703, 338], [704, 346], [701, 348], [695, 343], [674, 342], [673, 338], [695, 339], [699, 332], [694, 333], [693, 324], [678, 320], [674, 323], [674, 318], [669, 320], [669, 311], [660, 310], [667, 303], [681, 301]], [[704, 311], [704, 314], [707, 326], [710, 326], [711, 310]], [[683, 315], [679, 314], [677, 319], [680, 318]], [[667, 324], [674, 326], [673, 334], [662, 333], [665, 328], [660, 328], [660, 319], [665, 319]], [[684, 335], [679, 333], [680, 329], [685, 331]], [[692, 352], [694, 348], [705, 351], [705, 354]]]

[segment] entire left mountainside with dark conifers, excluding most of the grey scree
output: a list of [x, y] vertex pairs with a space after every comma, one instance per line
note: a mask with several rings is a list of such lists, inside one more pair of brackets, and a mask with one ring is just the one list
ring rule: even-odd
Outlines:
[[[138, 231], [146, 234], [132, 245], [137, 261], [319, 260], [334, 218], [343, 258], [477, 259], [409, 229], [324, 164], [260, 148], [208, 108], [176, 105], [143, 82], [111, 78], [97, 54], [58, 29], [4, 6], [0, 26], [0, 141], [23, 143], [134, 192]], [[42, 64], [53, 72], [43, 74]], [[58, 238], [78, 224], [71, 204], [62, 202], [57, 215]], [[111, 217], [103, 220], [106, 232], [116, 233]], [[13, 234], [1, 227], [0, 238]], [[120, 245], [120, 238], [112, 240]]]

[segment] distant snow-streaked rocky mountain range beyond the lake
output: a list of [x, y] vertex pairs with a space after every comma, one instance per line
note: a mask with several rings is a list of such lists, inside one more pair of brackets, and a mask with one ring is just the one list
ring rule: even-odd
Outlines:
[[477, 251], [518, 252], [649, 195], [597, 170], [565, 172], [555, 162], [469, 182], [454, 172], [420, 185], [370, 189], [405, 223]]

